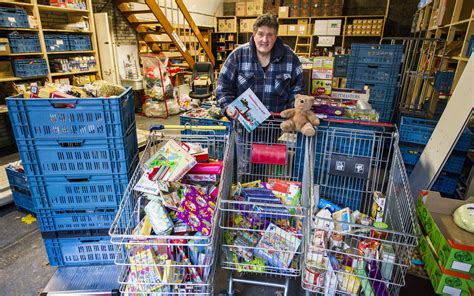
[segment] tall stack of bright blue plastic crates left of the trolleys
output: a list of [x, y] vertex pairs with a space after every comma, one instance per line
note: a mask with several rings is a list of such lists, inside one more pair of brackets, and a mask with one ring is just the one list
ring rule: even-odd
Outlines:
[[138, 163], [131, 88], [6, 102], [50, 264], [113, 264], [107, 233]]

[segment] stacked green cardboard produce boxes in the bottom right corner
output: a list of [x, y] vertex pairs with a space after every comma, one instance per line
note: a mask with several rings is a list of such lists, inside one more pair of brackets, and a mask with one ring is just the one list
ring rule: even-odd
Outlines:
[[422, 191], [418, 199], [423, 231], [418, 248], [438, 294], [472, 295], [474, 290], [474, 234], [459, 228], [452, 217], [458, 207], [473, 202], [474, 197], [454, 200], [434, 191]]

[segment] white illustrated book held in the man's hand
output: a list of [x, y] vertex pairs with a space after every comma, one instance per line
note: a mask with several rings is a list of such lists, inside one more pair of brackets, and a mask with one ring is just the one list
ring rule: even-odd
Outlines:
[[270, 116], [268, 109], [250, 88], [227, 107], [227, 112], [231, 118], [238, 119], [249, 133]]

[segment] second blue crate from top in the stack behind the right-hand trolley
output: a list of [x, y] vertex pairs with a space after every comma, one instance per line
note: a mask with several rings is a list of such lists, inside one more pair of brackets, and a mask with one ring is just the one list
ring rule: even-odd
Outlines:
[[400, 65], [395, 66], [366, 66], [349, 63], [347, 68], [348, 83], [384, 83], [389, 87], [396, 87]]

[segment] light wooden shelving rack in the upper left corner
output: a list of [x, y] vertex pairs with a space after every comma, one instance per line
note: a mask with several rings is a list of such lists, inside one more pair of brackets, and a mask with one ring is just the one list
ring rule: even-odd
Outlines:
[[[99, 75], [100, 73], [100, 63], [99, 63], [99, 55], [97, 51], [97, 41], [95, 37], [95, 26], [94, 26], [94, 14], [92, 11], [92, 0], [84, 0], [86, 4], [86, 9], [75, 9], [75, 8], [66, 8], [66, 7], [56, 7], [50, 5], [43, 5], [38, 2], [38, 0], [25, 0], [24, 2], [0, 2], [0, 7], [18, 7], [25, 9], [29, 15], [32, 15], [36, 18], [38, 28], [5, 28], [1, 27], [0, 32], [31, 32], [38, 34], [39, 42], [41, 50], [32, 53], [19, 53], [15, 54], [12, 53], [9, 57], [28, 57], [28, 58], [43, 58], [46, 60], [46, 65], [48, 68], [48, 72], [46, 75], [36, 76], [36, 77], [5, 77], [0, 78], [0, 83], [2, 82], [15, 82], [15, 81], [25, 81], [25, 80], [45, 80], [53, 81], [56, 77], [72, 77], [73, 75], [77, 74], [90, 74], [96, 73]], [[72, 15], [81, 15], [88, 18], [89, 22], [89, 31], [77, 31], [77, 30], [63, 30], [63, 29], [54, 29], [54, 28], [47, 28], [43, 25], [42, 14], [47, 12], [54, 12], [58, 14], [65, 14], [68, 19]], [[54, 34], [79, 34], [79, 35], [86, 35], [89, 36], [91, 39], [91, 50], [81, 50], [81, 51], [60, 51], [60, 52], [48, 52], [46, 49], [46, 43], [44, 38], [44, 33], [54, 33]], [[96, 67], [95, 69], [88, 70], [88, 71], [72, 71], [72, 72], [65, 72], [65, 73], [54, 73], [51, 71], [49, 65], [49, 59], [52, 57], [71, 57], [77, 55], [90, 55], [93, 56], [96, 60]]]

